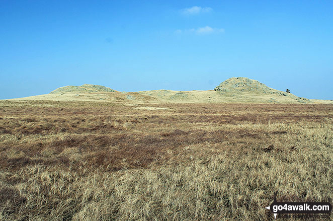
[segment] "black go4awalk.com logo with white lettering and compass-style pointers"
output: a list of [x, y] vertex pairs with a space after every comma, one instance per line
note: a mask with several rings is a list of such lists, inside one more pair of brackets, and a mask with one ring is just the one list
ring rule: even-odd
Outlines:
[[274, 201], [270, 206], [265, 208], [270, 209], [274, 218], [278, 213], [305, 213], [305, 214], [326, 214], [332, 210], [332, 205], [329, 202], [278, 202], [276, 200], [276, 192], [274, 192]]

